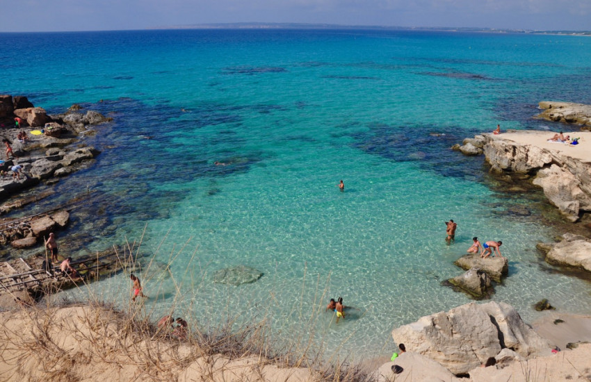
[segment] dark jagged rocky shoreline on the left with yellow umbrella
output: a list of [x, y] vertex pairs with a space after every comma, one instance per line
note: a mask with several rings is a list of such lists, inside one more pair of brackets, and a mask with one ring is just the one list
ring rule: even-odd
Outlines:
[[[16, 215], [24, 206], [54, 196], [53, 186], [60, 178], [95, 163], [100, 151], [88, 146], [84, 138], [97, 133], [96, 125], [112, 119], [79, 110], [81, 107], [74, 105], [63, 114], [48, 115], [26, 97], [0, 95], [0, 137], [7, 145], [2, 156], [6, 160], [0, 160], [0, 215]], [[38, 186], [42, 187], [35, 191]], [[26, 196], [19, 198], [19, 194]], [[13, 249], [42, 247], [50, 232], [67, 229], [76, 202], [82, 203], [74, 198], [33, 215], [4, 217], [0, 220], [0, 244], [10, 244]], [[4, 258], [14, 257], [3, 252]]]

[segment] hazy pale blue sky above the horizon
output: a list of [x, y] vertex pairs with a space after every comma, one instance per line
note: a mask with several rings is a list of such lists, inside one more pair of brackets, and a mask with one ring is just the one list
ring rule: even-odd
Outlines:
[[0, 0], [0, 31], [238, 22], [590, 31], [591, 0]]

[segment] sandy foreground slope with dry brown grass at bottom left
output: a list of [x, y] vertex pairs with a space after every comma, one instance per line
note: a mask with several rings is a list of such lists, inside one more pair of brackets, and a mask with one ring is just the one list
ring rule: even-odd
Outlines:
[[[119, 256], [124, 269], [137, 269], [139, 248], [127, 243]], [[168, 266], [158, 272], [170, 273], [179, 253], [172, 252]], [[153, 264], [154, 257], [141, 269], [145, 281], [155, 277]], [[77, 288], [87, 286], [79, 283]], [[182, 295], [181, 285], [176, 288], [174, 301]], [[44, 292], [51, 296], [50, 290]], [[213, 325], [191, 324], [186, 337], [179, 338], [156, 327], [154, 308], [131, 301], [121, 308], [92, 294], [92, 288], [88, 292], [91, 298], [84, 304], [46, 298], [42, 304], [5, 313], [0, 323], [1, 381], [371, 380], [360, 365], [326, 362], [329, 358], [310, 346], [314, 333], [293, 344], [274, 343], [266, 318], [239, 324], [228, 315]], [[175, 308], [173, 303], [170, 315]]]

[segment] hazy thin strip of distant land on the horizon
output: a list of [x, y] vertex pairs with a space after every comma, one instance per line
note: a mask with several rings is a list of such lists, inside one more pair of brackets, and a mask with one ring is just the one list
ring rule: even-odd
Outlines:
[[449, 31], [449, 32], [487, 32], [487, 33], [532, 33], [551, 35], [591, 35], [591, 31], [538, 31], [534, 29], [501, 29], [450, 26], [371, 26], [371, 25], [339, 25], [339, 24], [305, 24], [305, 23], [265, 23], [237, 22], [218, 24], [189, 24], [157, 26], [149, 29], [363, 29], [376, 31]]

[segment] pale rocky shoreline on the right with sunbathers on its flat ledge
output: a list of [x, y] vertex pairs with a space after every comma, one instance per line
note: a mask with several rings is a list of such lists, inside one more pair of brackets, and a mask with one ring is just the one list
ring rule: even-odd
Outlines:
[[[540, 102], [547, 109], [539, 115], [552, 121], [591, 123], [591, 106], [578, 103]], [[560, 116], [558, 111], [560, 110]], [[566, 116], [566, 117], [565, 117]], [[560, 126], [563, 130], [565, 126]], [[569, 126], [569, 128], [572, 126]], [[547, 263], [565, 269], [580, 269], [591, 276], [591, 132], [565, 131], [564, 135], [578, 138], [577, 144], [550, 140], [549, 131], [506, 131], [486, 133], [466, 138], [455, 145], [464, 155], [484, 155], [496, 176], [522, 176], [532, 186], [542, 188], [550, 204], [556, 206], [562, 218], [577, 225], [565, 226], [555, 243], [537, 245]], [[577, 232], [573, 232], [574, 228]], [[579, 233], [583, 233], [580, 235]]]

